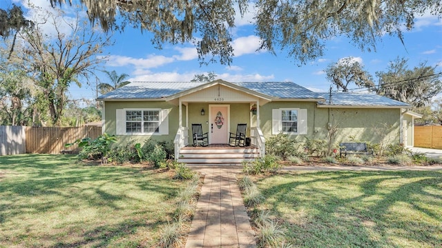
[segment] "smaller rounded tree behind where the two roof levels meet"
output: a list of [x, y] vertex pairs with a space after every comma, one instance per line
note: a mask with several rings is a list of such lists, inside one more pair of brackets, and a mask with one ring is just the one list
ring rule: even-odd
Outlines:
[[374, 86], [372, 75], [364, 70], [364, 65], [359, 63], [354, 57], [350, 56], [340, 59], [336, 63], [331, 63], [325, 70], [327, 79], [334, 83], [338, 90], [348, 92], [348, 85], [353, 83], [358, 87]]

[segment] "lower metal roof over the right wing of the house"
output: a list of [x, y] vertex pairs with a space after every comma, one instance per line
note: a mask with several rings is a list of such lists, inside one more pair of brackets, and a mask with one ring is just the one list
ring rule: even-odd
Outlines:
[[323, 103], [318, 103], [318, 107], [411, 107], [407, 103], [374, 93], [333, 92], [332, 103], [329, 101], [329, 93], [318, 94], [325, 98]]

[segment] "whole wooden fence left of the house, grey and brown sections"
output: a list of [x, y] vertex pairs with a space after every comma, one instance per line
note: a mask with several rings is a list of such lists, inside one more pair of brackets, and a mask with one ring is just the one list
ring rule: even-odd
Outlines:
[[[0, 126], [0, 155], [59, 154], [66, 143], [97, 138], [102, 127], [21, 127]], [[77, 145], [68, 149], [76, 149]]]

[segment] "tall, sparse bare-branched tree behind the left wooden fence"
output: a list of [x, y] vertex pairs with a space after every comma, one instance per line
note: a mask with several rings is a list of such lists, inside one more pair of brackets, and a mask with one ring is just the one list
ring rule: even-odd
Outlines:
[[[81, 87], [80, 78], [88, 81], [106, 59], [106, 56], [98, 56], [102, 54], [102, 48], [111, 44], [109, 37], [88, 30], [88, 25], [80, 17], [68, 21], [62, 16], [61, 11], [57, 14], [46, 12], [45, 17], [39, 17], [35, 29], [21, 30], [18, 34], [23, 48], [12, 54], [15, 59], [21, 59], [23, 70], [32, 74], [39, 86], [43, 94], [39, 99], [48, 106], [52, 125], [60, 125], [70, 83]], [[52, 25], [53, 37], [44, 33], [41, 26], [44, 23]], [[69, 34], [62, 30], [62, 24], [68, 28]]]

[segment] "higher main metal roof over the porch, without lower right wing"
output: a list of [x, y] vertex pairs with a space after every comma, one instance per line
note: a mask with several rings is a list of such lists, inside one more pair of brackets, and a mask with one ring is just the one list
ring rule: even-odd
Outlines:
[[[220, 81], [222, 84], [222, 81]], [[322, 99], [316, 92], [293, 82], [229, 82], [247, 90], [279, 99]], [[99, 96], [99, 100], [108, 99], [162, 99], [190, 90], [206, 82], [133, 82]]]

